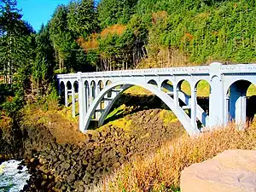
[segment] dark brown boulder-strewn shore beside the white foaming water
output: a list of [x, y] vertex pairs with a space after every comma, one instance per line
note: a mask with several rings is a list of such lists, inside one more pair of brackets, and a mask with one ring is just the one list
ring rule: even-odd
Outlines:
[[154, 153], [162, 143], [183, 134], [182, 129], [164, 125], [159, 113], [160, 109], [144, 109], [127, 115], [132, 130], [105, 125], [89, 131], [79, 144], [57, 143], [44, 125], [12, 126], [0, 135], [0, 159], [25, 159], [23, 165], [32, 177], [23, 191], [90, 191], [125, 162]]

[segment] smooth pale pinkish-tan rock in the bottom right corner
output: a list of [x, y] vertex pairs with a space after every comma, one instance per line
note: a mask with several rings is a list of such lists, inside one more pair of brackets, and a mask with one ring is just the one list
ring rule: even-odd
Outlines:
[[212, 160], [185, 168], [182, 192], [254, 192], [256, 151], [227, 150]]

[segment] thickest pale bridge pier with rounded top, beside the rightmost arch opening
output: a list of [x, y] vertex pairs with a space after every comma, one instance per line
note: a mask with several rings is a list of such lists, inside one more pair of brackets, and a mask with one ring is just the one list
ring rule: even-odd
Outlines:
[[212, 128], [224, 125], [224, 82], [221, 75], [222, 64], [215, 62], [210, 66], [211, 92], [209, 97], [209, 119]]

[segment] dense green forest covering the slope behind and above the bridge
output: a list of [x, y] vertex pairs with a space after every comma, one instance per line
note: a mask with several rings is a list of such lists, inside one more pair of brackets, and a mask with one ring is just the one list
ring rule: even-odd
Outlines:
[[256, 60], [254, 0], [73, 0], [37, 33], [16, 5], [0, 0], [0, 69], [19, 100], [55, 73]]

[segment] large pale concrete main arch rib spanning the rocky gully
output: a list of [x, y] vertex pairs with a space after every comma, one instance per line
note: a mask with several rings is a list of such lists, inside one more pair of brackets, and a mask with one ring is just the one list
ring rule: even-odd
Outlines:
[[[112, 84], [108, 84], [100, 93], [98, 96], [96, 96], [96, 99], [91, 103], [91, 106], [86, 113], [84, 117], [84, 123], [82, 127], [82, 132], [85, 132], [89, 125], [90, 125], [90, 119], [92, 118], [93, 114], [96, 112], [97, 106], [102, 102], [102, 99], [106, 94], [108, 94], [109, 91], [113, 90], [113, 88], [117, 86], [123, 86], [123, 90], [128, 89], [132, 85], [137, 85], [140, 87], [143, 87], [146, 90], [149, 90], [152, 92], [155, 96], [158, 96], [162, 102], [165, 102], [168, 108], [172, 110], [172, 112], [177, 116], [177, 119], [181, 122], [183, 125], [184, 129], [189, 133], [190, 136], [198, 135], [200, 131], [197, 129], [197, 127], [194, 127], [190, 123], [189, 116], [183, 111], [182, 108], [179, 106], [175, 105], [173, 102], [173, 99], [168, 96], [164, 91], [158, 89], [155, 85], [153, 84], [147, 84], [143, 82], [137, 82], [137, 81], [130, 81], [130, 80], [125, 80], [125, 81], [118, 81], [114, 82]], [[124, 87], [125, 86], [125, 87]], [[120, 94], [118, 94], [120, 95]], [[117, 100], [117, 98], [115, 99]], [[108, 108], [109, 110], [110, 108]], [[106, 115], [106, 114], [105, 114]], [[81, 129], [81, 128], [80, 128]]]

